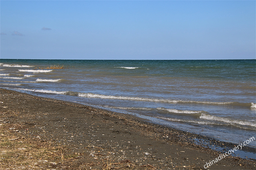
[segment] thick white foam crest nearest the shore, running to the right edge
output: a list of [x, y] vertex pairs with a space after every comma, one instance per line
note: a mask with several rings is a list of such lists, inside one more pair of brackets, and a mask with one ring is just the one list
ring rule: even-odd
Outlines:
[[237, 124], [237, 125], [245, 125], [245, 126], [256, 127], [256, 124], [252, 123], [252, 122], [238, 121], [238, 120], [233, 120], [233, 119], [229, 119], [229, 118], [222, 118], [222, 117], [212, 116], [212, 115], [207, 115], [207, 114], [201, 114], [201, 116], [199, 118], [200, 119], [205, 119], [205, 120], [210, 120], [210, 121], [224, 122], [224, 123], [228, 123], [230, 125]]

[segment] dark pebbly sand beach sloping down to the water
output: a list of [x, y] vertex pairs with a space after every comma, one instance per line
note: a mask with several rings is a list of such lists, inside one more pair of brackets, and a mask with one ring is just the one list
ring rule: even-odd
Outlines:
[[[78, 155], [70, 159], [69, 164], [44, 160], [48, 164], [40, 166], [35, 163], [12, 166], [2, 160], [0, 169], [203, 170], [206, 162], [220, 154], [190, 140], [203, 136], [151, 124], [125, 114], [6, 89], [0, 89], [0, 103], [0, 128], [8, 127], [5, 130], [17, 133], [19, 138], [29, 135], [30, 140], [51, 141], [65, 146], [68, 153]], [[8, 146], [0, 147], [0, 155], [5, 154], [3, 150], [8, 150]], [[49, 165], [49, 162], [54, 163]], [[228, 156], [207, 169], [255, 169], [255, 166], [255, 160]]]

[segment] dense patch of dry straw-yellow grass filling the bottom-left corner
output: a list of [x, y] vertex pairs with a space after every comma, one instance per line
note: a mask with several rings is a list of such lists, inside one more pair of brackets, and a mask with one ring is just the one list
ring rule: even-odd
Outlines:
[[[24, 132], [18, 133], [17, 130]], [[63, 145], [40, 138], [31, 139], [20, 125], [0, 125], [0, 169], [68, 167], [68, 160], [76, 156], [67, 154]]]

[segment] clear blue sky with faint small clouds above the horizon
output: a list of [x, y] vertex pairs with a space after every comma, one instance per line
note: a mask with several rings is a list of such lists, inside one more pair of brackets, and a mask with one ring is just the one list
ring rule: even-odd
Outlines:
[[1, 57], [255, 59], [255, 1], [0, 1]]

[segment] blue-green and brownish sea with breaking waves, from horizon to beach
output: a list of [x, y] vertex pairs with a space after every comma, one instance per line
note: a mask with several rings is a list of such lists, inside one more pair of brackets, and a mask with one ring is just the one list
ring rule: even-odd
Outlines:
[[[255, 62], [1, 59], [0, 87], [239, 144], [256, 137]], [[39, 69], [54, 64], [66, 68]]]

